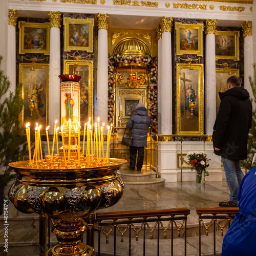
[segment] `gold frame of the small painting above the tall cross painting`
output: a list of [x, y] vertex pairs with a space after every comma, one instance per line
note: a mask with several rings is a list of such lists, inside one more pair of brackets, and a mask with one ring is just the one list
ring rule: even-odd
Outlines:
[[[198, 56], [203, 56], [203, 30], [204, 30], [204, 24], [203, 23], [197, 23], [197, 24], [184, 24], [180, 22], [175, 23], [175, 29], [176, 29], [176, 49], [177, 49], [177, 55], [182, 54], [196, 54]], [[192, 34], [197, 34], [196, 37], [198, 39], [198, 49], [195, 50], [183, 50], [181, 47], [181, 35], [187, 32], [186, 30], [193, 30], [194, 32]], [[195, 35], [193, 35], [195, 36]], [[190, 36], [189, 36], [190, 38]], [[191, 38], [191, 40], [193, 39]], [[186, 38], [184, 38], [186, 39]], [[189, 39], [190, 40], [190, 39]]]

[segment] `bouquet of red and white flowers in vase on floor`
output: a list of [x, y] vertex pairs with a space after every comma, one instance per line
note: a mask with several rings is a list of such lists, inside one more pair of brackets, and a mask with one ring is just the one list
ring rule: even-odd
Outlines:
[[201, 183], [203, 172], [205, 176], [209, 176], [209, 172], [206, 168], [209, 166], [208, 161], [210, 159], [207, 158], [204, 152], [188, 152], [187, 158], [191, 170], [196, 170], [197, 172], [197, 182]]

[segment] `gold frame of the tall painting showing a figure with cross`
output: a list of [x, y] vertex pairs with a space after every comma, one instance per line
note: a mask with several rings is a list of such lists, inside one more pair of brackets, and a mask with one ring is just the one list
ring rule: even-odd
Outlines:
[[[190, 130], [184, 129], [184, 126], [186, 126], [185, 121], [188, 121], [190, 119], [187, 119], [181, 115], [184, 114], [185, 111], [185, 102], [184, 100], [181, 100], [182, 97], [182, 89], [183, 89], [183, 78], [181, 78], [181, 72], [185, 73], [187, 77], [189, 77], [189, 74], [192, 72], [193, 77], [191, 77], [190, 82], [192, 86], [194, 87], [194, 84], [197, 83], [197, 118], [193, 118], [191, 120], [198, 120], [196, 122], [196, 125], [188, 125]], [[183, 74], [182, 74], [183, 75]], [[195, 77], [197, 75], [197, 77]], [[189, 80], [189, 79], [187, 79]], [[194, 81], [193, 81], [194, 80]], [[185, 80], [184, 80], [185, 81]], [[186, 81], [185, 81], [186, 83]], [[188, 84], [187, 83], [187, 86]], [[186, 84], [185, 84], [186, 85]], [[195, 87], [194, 87], [195, 88]], [[203, 75], [203, 64], [191, 64], [188, 63], [177, 63], [177, 110], [176, 110], [176, 116], [177, 116], [177, 134], [178, 135], [203, 135], [204, 134], [204, 75]], [[182, 105], [183, 104], [183, 105]], [[182, 113], [183, 109], [183, 113]], [[193, 121], [195, 123], [195, 121]], [[198, 128], [197, 128], [198, 126]]]

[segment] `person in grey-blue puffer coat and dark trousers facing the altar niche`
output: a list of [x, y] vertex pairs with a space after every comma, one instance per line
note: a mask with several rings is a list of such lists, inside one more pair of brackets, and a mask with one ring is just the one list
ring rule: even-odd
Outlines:
[[132, 137], [132, 146], [130, 146], [130, 165], [129, 168], [134, 170], [137, 159], [137, 171], [140, 172], [144, 160], [144, 148], [146, 146], [147, 129], [150, 126], [151, 120], [147, 115], [145, 104], [139, 103], [136, 106], [134, 114], [126, 123], [126, 128], [130, 129], [130, 137]]

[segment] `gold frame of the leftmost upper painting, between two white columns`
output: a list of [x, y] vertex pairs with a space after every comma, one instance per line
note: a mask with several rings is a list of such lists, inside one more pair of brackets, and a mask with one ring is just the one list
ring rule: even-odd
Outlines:
[[[29, 23], [29, 22], [19, 22], [19, 54], [25, 54], [25, 53], [43, 53], [45, 55], [50, 54], [50, 23]], [[37, 49], [29, 49], [25, 48], [26, 42], [25, 42], [25, 36], [26, 36], [26, 28], [30, 29], [39, 29], [37, 30], [38, 36], [40, 33], [38, 31], [45, 30], [45, 33], [43, 35], [46, 36], [45, 43], [46, 43], [46, 49], [41, 49], [39, 46]], [[29, 35], [27, 33], [27, 35]], [[39, 39], [39, 38], [38, 38]], [[40, 41], [39, 41], [40, 44]], [[31, 43], [30, 43], [31, 45]]]

